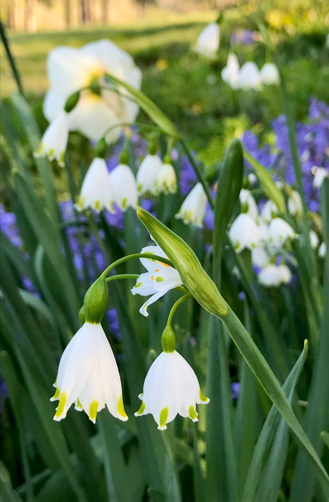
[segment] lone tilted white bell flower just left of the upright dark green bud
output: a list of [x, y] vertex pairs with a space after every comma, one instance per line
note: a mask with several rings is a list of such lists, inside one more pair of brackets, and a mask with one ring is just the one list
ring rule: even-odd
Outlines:
[[206, 212], [207, 195], [202, 184], [197, 183], [183, 202], [181, 209], [175, 218], [182, 219], [188, 224], [190, 221], [199, 228], [202, 228], [203, 219]]

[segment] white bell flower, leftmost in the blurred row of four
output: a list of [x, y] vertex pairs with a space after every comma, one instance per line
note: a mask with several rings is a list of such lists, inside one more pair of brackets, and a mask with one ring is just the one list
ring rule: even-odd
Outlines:
[[113, 212], [113, 198], [110, 176], [104, 159], [96, 157], [92, 161], [83, 180], [76, 208], [79, 211], [87, 208]]

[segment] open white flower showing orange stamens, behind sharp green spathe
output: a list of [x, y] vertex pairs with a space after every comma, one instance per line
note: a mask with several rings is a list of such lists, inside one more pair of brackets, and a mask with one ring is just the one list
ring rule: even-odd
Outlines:
[[[154, 255], [167, 258], [166, 254], [158, 245], [143, 247], [141, 252], [153, 253]], [[177, 270], [165, 263], [159, 262], [158, 260], [151, 260], [150, 258], [140, 258], [140, 262], [147, 272], [140, 274], [131, 293], [141, 296], [152, 295], [139, 309], [139, 312], [147, 317], [147, 307], [149, 305], [156, 302], [156, 300], [161, 298], [161, 296], [166, 294], [170, 289], [182, 286], [183, 282]]]

